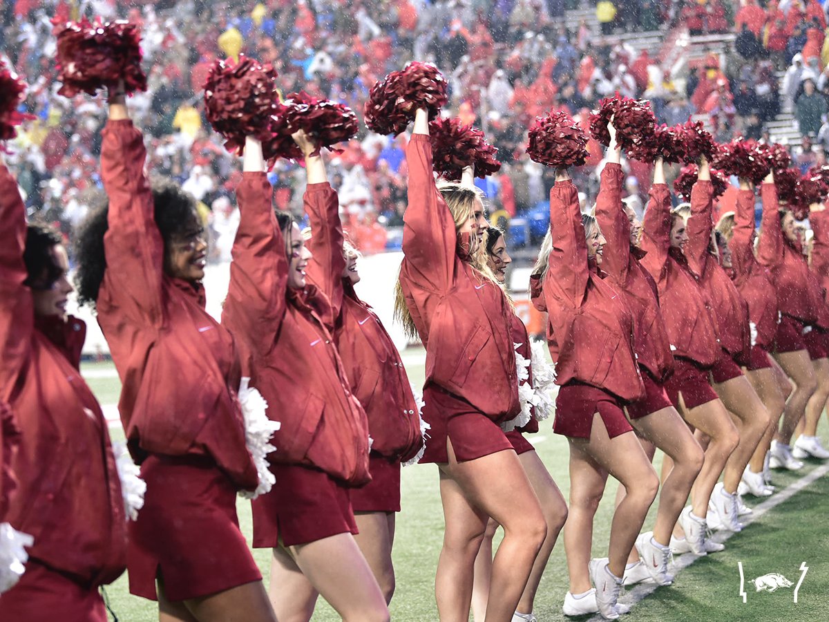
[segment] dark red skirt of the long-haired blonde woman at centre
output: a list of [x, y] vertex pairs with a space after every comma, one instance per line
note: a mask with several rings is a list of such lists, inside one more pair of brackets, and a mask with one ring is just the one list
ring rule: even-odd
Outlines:
[[446, 464], [447, 437], [458, 462], [483, 458], [512, 449], [500, 425], [460, 397], [429, 384], [423, 392], [423, 420], [431, 425], [426, 450], [419, 464]]

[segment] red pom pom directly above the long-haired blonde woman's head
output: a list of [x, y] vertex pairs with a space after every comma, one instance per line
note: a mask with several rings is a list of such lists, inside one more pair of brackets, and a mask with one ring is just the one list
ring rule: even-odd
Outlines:
[[463, 168], [475, 167], [475, 177], [487, 177], [501, 170], [495, 159], [497, 148], [487, 143], [483, 132], [460, 119], [434, 119], [429, 124], [432, 166], [446, 179], [458, 181]]

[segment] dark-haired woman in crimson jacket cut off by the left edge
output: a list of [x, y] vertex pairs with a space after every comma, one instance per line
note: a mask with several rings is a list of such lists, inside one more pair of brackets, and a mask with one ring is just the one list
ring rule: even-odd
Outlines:
[[[106, 622], [99, 586], [124, 572], [127, 522], [107, 423], [80, 377], [86, 326], [66, 314], [72, 285], [61, 234], [27, 225], [2, 163], [0, 222], [0, 403], [21, 433], [10, 464], [17, 491], [0, 515], [32, 545], [22, 578], [0, 597], [0, 620]], [[5, 445], [15, 429], [3, 410]], [[2, 464], [4, 495], [8, 473]]]

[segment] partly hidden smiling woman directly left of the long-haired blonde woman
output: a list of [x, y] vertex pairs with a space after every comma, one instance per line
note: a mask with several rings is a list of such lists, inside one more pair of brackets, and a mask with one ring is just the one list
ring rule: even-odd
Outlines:
[[[316, 164], [318, 158], [311, 162]], [[366, 411], [372, 440], [371, 482], [350, 490], [359, 530], [355, 539], [388, 603], [395, 591], [391, 547], [395, 513], [400, 512], [400, 462], [412, 459], [423, 445], [418, 407], [395, 344], [354, 289], [360, 281], [359, 255], [343, 236], [337, 192], [327, 183], [322, 163], [308, 168], [308, 177], [304, 201], [311, 225], [307, 244], [313, 255], [308, 280], [331, 302], [331, 315], [322, 320], [334, 327], [337, 352], [351, 392]]]

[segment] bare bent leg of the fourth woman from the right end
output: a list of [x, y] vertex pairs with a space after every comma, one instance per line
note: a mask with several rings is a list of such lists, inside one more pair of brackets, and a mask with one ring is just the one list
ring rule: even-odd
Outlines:
[[771, 417], [748, 378], [744, 376], [717, 383], [714, 390], [725, 407], [734, 414], [739, 433], [739, 442], [725, 463], [723, 477], [725, 492], [734, 494], [737, 492], [746, 464], [749, 464], [754, 449], [757, 449], [765, 431], [768, 430]]

